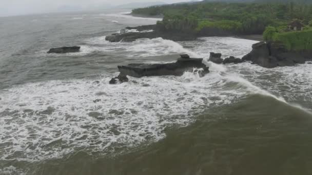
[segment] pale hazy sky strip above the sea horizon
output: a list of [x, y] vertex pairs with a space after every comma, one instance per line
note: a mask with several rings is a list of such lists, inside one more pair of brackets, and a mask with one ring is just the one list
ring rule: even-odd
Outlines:
[[99, 9], [128, 3], [183, 1], [187, 0], [0, 0], [0, 16]]

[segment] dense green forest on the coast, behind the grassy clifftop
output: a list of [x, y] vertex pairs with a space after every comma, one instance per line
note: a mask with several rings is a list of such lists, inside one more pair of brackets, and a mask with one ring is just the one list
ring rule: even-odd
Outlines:
[[235, 33], [262, 34], [267, 26], [285, 26], [294, 18], [301, 19], [308, 25], [312, 20], [312, 5], [294, 2], [200, 2], [134, 9], [132, 13], [163, 14], [164, 20], [160, 24], [163, 24], [167, 30], [199, 31], [214, 27], [228, 29]]

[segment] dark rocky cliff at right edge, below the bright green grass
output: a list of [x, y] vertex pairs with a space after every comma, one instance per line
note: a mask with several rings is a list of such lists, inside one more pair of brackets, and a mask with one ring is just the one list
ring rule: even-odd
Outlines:
[[252, 45], [252, 51], [245, 55], [243, 61], [251, 61], [264, 68], [293, 66], [297, 63], [305, 63], [312, 57], [309, 51], [287, 51], [280, 42], [258, 42]]

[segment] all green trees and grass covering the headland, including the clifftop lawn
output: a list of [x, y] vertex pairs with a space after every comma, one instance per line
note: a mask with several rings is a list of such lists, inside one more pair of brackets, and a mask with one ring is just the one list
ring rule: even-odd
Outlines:
[[[312, 0], [239, 1], [155, 6], [132, 13], [164, 15], [158, 25], [165, 30], [202, 33], [205, 29], [222, 29], [232, 34], [263, 34], [267, 41], [282, 41], [288, 50], [312, 49]], [[303, 31], [285, 30], [293, 19], [305, 25]]]

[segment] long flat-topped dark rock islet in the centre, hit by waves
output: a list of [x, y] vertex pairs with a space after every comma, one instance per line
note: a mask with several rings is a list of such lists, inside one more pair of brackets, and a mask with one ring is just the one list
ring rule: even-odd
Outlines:
[[177, 62], [166, 64], [128, 64], [118, 66], [121, 74], [129, 75], [131, 77], [144, 76], [164, 76], [175, 75], [182, 76], [184, 72], [192, 72], [193, 68], [202, 69], [200, 75], [204, 76], [209, 73], [209, 68], [202, 63], [202, 58], [189, 58], [186, 55], [179, 58]]

